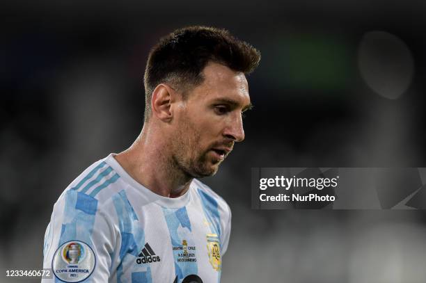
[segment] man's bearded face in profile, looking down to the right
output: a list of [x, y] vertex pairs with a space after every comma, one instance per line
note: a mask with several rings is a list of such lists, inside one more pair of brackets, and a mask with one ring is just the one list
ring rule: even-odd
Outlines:
[[217, 172], [234, 143], [244, 140], [242, 113], [251, 107], [242, 72], [209, 63], [203, 76], [203, 83], [178, 102], [173, 121], [173, 161], [191, 177]]

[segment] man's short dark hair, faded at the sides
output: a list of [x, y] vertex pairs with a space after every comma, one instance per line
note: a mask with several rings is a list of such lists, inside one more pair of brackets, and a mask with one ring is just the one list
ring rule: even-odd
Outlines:
[[215, 62], [249, 74], [258, 67], [260, 52], [225, 29], [188, 26], [161, 38], [152, 47], [146, 64], [145, 121], [151, 113], [152, 92], [159, 83], [169, 83], [184, 93], [203, 83], [207, 63]]

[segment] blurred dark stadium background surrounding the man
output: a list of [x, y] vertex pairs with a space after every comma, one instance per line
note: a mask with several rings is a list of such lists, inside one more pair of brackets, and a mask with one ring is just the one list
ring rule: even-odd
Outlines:
[[250, 208], [252, 167], [426, 167], [423, 1], [0, 5], [2, 270], [42, 267], [63, 189], [141, 130], [150, 47], [203, 24], [262, 52], [246, 140], [204, 180], [233, 213], [222, 282], [426, 282], [423, 211]]

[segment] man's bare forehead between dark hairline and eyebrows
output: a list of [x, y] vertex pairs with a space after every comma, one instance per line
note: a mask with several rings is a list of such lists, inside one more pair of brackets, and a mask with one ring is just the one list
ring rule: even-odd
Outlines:
[[232, 99], [242, 106], [250, 104], [244, 73], [235, 72], [218, 63], [209, 63], [203, 70], [203, 76], [203, 83], [194, 88], [194, 98]]

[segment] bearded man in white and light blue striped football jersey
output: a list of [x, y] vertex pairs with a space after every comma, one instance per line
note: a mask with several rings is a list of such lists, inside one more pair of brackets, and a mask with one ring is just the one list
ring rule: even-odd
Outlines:
[[160, 40], [145, 70], [141, 134], [54, 205], [44, 268], [55, 282], [220, 281], [230, 209], [195, 178], [214, 175], [244, 140], [244, 74], [259, 60], [225, 30], [192, 26]]

